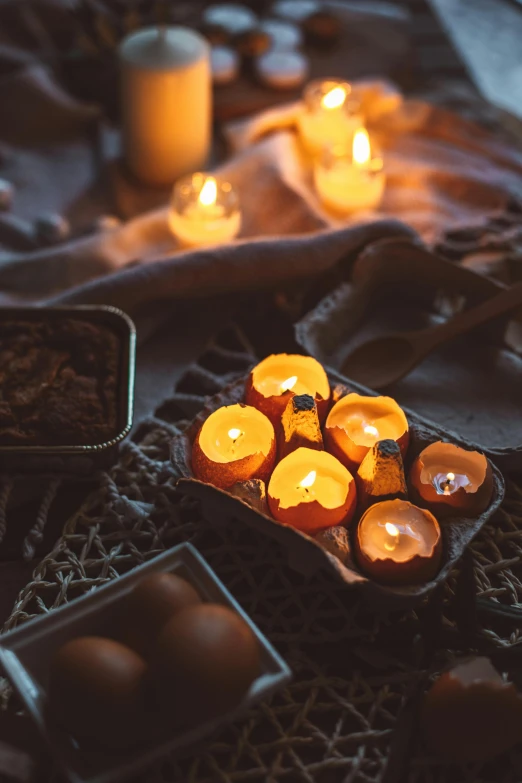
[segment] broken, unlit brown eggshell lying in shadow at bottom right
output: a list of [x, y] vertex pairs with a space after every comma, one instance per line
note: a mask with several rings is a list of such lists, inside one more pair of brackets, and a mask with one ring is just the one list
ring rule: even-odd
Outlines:
[[522, 741], [522, 699], [487, 658], [474, 658], [434, 683], [421, 726], [438, 756], [459, 763], [486, 761]]

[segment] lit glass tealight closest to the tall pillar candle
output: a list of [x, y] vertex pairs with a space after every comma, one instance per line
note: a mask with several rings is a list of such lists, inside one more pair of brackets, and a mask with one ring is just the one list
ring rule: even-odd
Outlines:
[[231, 242], [241, 227], [239, 200], [232, 185], [197, 173], [174, 187], [169, 224], [182, 247]]

